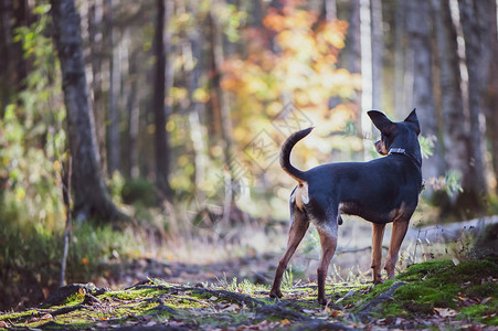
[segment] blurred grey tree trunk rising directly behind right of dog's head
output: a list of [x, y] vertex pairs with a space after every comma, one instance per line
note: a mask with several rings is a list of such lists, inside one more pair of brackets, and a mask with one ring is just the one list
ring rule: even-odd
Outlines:
[[433, 96], [433, 62], [431, 50], [431, 11], [427, 0], [406, 2], [406, 30], [413, 60], [413, 108], [417, 109], [422, 135], [434, 143], [433, 156], [424, 160], [424, 178], [444, 173], [443, 149]]

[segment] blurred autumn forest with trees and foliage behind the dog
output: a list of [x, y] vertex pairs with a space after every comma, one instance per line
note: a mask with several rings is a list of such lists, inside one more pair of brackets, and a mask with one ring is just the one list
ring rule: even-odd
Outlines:
[[283, 249], [280, 143], [316, 126], [298, 168], [371, 159], [370, 109], [417, 109], [423, 223], [498, 213], [495, 0], [0, 6], [0, 310], [144, 256]]

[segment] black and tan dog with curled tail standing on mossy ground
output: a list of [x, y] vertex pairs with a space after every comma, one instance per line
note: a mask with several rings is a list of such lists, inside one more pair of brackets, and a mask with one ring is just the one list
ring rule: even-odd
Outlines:
[[358, 215], [373, 225], [372, 268], [375, 284], [382, 280], [384, 227], [386, 223], [393, 223], [385, 270], [390, 279], [394, 278], [400, 246], [422, 190], [422, 156], [417, 139], [420, 125], [415, 110], [401, 122], [393, 122], [377, 110], [368, 115], [382, 134], [375, 148], [381, 154], [386, 154], [384, 158], [370, 162], [330, 163], [300, 171], [290, 164], [290, 151], [312, 128], [295, 132], [282, 147], [280, 166], [298, 185], [290, 195], [292, 225], [287, 250], [278, 264], [271, 297], [282, 297], [284, 270], [311, 222], [318, 229], [322, 249], [317, 269], [318, 301], [327, 303], [325, 279], [336, 250], [341, 214]]

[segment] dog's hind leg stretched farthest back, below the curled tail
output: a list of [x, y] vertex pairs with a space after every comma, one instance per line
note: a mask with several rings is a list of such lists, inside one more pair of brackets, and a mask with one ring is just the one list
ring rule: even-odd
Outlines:
[[292, 211], [292, 225], [289, 229], [289, 238], [287, 242], [287, 249], [284, 256], [280, 258], [278, 263], [277, 271], [275, 273], [275, 279], [273, 280], [272, 290], [269, 291], [269, 296], [272, 298], [282, 298], [280, 285], [282, 277], [284, 276], [284, 271], [287, 268], [287, 264], [293, 257], [294, 252], [296, 252], [297, 246], [299, 246], [300, 241], [306, 234], [306, 231], [309, 227], [309, 220], [305, 212], [299, 211], [297, 207], [293, 207]]

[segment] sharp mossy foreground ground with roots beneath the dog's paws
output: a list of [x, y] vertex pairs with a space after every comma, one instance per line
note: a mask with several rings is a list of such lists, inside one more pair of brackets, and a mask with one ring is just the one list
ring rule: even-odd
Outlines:
[[70, 285], [34, 309], [0, 316], [20, 329], [353, 330], [467, 329], [498, 325], [498, 259], [414, 265], [395, 280], [327, 285], [329, 302], [316, 300], [314, 282], [284, 281], [284, 298], [248, 280], [194, 286], [145, 279], [118, 290]]

